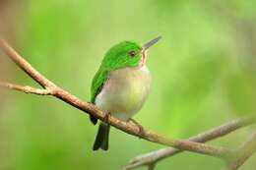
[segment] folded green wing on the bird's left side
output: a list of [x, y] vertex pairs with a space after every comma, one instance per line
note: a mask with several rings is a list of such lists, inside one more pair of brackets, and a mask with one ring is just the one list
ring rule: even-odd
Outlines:
[[[91, 102], [95, 103], [96, 101], [96, 95], [101, 91], [103, 85], [106, 83], [107, 79], [108, 79], [108, 71], [106, 70], [101, 70], [99, 69], [96, 73], [96, 76], [93, 80], [93, 84], [91, 86], [91, 93], [92, 93], [92, 97], [91, 97]], [[93, 122], [93, 124], [96, 125], [96, 117], [90, 115], [90, 119]]]

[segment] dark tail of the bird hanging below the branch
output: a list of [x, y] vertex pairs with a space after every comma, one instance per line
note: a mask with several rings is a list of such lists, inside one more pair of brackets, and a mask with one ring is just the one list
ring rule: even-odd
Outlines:
[[96, 141], [93, 147], [94, 150], [97, 150], [98, 148], [101, 148], [103, 150], [108, 149], [109, 129], [110, 129], [110, 126], [108, 124], [104, 124], [104, 123], [99, 124], [97, 134], [96, 134]]

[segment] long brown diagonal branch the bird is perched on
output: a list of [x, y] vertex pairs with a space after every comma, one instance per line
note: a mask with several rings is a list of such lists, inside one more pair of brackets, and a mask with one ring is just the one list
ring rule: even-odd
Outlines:
[[[28, 63], [21, 55], [19, 55], [4, 39], [0, 38], [0, 48], [5, 54], [11, 58], [22, 70], [24, 70], [34, 81], [39, 85], [49, 90], [51, 95], [63, 100], [66, 103], [95, 116], [97, 119], [105, 122], [105, 113], [96, 108], [94, 104], [85, 102], [68, 91], [54, 85], [52, 82], [43, 77], [37, 72], [32, 65]], [[178, 149], [193, 151], [197, 153], [203, 153], [212, 155], [215, 157], [226, 158], [227, 155], [231, 154], [229, 149], [221, 146], [207, 145], [199, 142], [190, 142], [186, 140], [177, 140], [171, 138], [165, 138], [152, 131], [145, 131], [144, 134], [140, 133], [140, 128], [131, 123], [120, 121], [113, 116], [109, 116], [107, 122], [111, 126], [136, 137], [142, 138], [150, 142], [157, 142], [167, 146], [173, 146]]]

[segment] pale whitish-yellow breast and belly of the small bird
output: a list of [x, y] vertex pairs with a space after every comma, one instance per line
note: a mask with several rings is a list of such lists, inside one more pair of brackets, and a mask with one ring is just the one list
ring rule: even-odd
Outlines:
[[151, 75], [146, 66], [115, 70], [96, 96], [96, 106], [128, 120], [142, 108], [150, 87]]

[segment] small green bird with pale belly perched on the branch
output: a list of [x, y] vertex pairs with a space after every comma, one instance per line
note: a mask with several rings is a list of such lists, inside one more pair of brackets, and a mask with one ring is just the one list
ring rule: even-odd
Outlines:
[[[143, 46], [123, 41], [111, 47], [96, 72], [91, 87], [91, 102], [107, 114], [129, 121], [143, 106], [151, 88], [151, 74], [146, 66], [149, 47], [160, 36]], [[96, 125], [97, 119], [90, 116]], [[110, 126], [101, 122], [93, 149], [108, 149]]]

